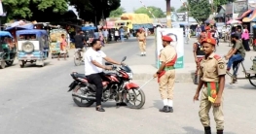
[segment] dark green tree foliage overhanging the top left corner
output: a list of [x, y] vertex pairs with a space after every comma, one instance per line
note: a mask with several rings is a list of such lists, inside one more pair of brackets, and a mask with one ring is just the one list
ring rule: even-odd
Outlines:
[[[7, 17], [30, 18], [37, 12], [49, 10], [52, 13], [64, 13], [67, 11], [67, 0], [2, 0]], [[51, 14], [45, 14], [47, 15]], [[42, 17], [42, 16], [41, 16]]]

